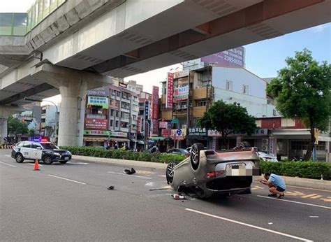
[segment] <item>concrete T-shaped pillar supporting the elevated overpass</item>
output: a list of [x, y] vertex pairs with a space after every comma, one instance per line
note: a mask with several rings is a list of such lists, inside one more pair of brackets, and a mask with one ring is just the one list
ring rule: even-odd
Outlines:
[[61, 106], [57, 145], [82, 146], [86, 92], [97, 87], [111, 85], [112, 79], [108, 76], [51, 64], [39, 66], [31, 76], [59, 88]]

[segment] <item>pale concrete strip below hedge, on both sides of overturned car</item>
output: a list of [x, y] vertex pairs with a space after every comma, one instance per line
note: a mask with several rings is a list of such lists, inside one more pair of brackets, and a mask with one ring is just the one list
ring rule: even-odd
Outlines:
[[[115, 166], [127, 166], [127, 167], [142, 167], [149, 169], [161, 169], [165, 170], [168, 164], [156, 163], [156, 162], [139, 162], [135, 160], [128, 159], [109, 159], [109, 158], [100, 158], [100, 157], [89, 157], [81, 155], [73, 155], [73, 159], [77, 159], [84, 162], [91, 163], [101, 163], [101, 164], [112, 164]], [[315, 180], [307, 178], [298, 178], [290, 176], [281, 176], [284, 178], [286, 185], [293, 185], [297, 187], [307, 187], [321, 190], [331, 190], [331, 181], [330, 180]], [[254, 176], [253, 180], [257, 180], [260, 176]]]

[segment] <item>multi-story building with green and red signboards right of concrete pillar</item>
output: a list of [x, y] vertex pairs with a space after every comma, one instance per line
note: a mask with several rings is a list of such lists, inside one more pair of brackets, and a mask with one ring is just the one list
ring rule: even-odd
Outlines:
[[138, 95], [111, 85], [87, 93], [84, 145], [136, 148]]

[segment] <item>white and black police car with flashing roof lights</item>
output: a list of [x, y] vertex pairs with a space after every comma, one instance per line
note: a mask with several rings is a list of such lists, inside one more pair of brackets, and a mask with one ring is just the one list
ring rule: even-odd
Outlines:
[[11, 152], [17, 163], [22, 163], [24, 159], [42, 160], [44, 164], [60, 162], [66, 164], [71, 160], [71, 152], [60, 150], [56, 145], [50, 142], [36, 143], [32, 141], [22, 141], [13, 147]]

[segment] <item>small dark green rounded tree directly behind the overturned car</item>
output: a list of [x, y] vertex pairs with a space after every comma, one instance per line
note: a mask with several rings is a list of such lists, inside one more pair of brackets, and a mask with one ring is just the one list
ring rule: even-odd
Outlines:
[[223, 148], [229, 134], [253, 134], [256, 127], [255, 118], [247, 113], [240, 104], [226, 104], [216, 101], [203, 117], [198, 120], [199, 127], [219, 131], [223, 137]]

